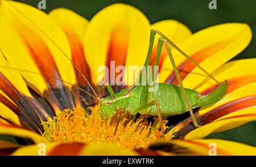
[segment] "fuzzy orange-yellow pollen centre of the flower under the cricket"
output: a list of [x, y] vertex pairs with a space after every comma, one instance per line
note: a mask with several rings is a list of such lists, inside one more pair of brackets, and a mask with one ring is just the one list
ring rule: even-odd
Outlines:
[[[49, 142], [114, 143], [130, 149], [146, 148], [161, 138], [157, 118], [148, 121], [145, 115], [137, 118], [129, 113], [117, 112], [104, 121], [97, 112], [99, 107], [90, 108], [90, 115], [81, 108], [59, 112], [43, 123], [44, 136]], [[163, 122], [164, 129], [167, 129], [166, 123]], [[165, 140], [170, 139], [171, 136], [165, 136]]]

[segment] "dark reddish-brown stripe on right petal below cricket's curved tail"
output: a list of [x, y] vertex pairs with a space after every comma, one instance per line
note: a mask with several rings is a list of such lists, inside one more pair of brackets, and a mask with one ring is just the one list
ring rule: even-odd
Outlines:
[[[249, 108], [256, 105], [256, 95], [242, 97], [234, 101], [230, 101], [226, 104], [218, 106], [212, 110], [209, 110], [207, 113], [201, 114], [197, 112], [195, 114], [197, 122], [199, 125], [205, 125], [210, 123], [218, 118], [221, 118], [230, 113], [237, 112], [238, 110]], [[191, 118], [184, 119], [184, 121], [178, 123], [174, 128], [177, 129], [174, 138], [183, 138], [188, 132], [195, 129], [191, 123]]]

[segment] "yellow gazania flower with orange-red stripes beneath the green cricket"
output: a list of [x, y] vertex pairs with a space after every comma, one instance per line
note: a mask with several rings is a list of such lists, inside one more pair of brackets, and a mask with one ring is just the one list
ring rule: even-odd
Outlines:
[[[256, 119], [256, 59], [228, 62], [249, 44], [247, 24], [226, 23], [192, 35], [175, 20], [150, 25], [141, 11], [123, 4], [104, 8], [90, 22], [65, 8], [47, 15], [12, 1], [1, 1], [0, 13], [0, 134], [10, 139], [0, 140], [1, 154], [208, 155], [215, 144], [217, 155], [256, 155], [250, 145], [204, 139]], [[229, 82], [222, 100], [195, 111], [201, 127], [194, 129], [187, 114], [166, 118], [165, 140], [157, 118], [120, 111], [102, 120], [81, 75], [98, 93], [99, 66], [143, 65], [150, 29], [163, 32], [217, 80]], [[217, 87], [172, 51], [186, 88], [204, 95]], [[165, 49], [159, 66], [159, 82], [177, 84]]]

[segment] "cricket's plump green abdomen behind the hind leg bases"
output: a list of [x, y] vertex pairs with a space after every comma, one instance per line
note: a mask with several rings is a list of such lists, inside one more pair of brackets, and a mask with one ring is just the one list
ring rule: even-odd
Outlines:
[[[196, 108], [199, 93], [192, 89], [185, 89], [185, 91], [192, 108]], [[188, 111], [182, 90], [180, 87], [175, 85], [159, 83], [158, 90], [153, 93], [152, 100], [159, 102], [160, 110], [163, 116], [183, 114]], [[151, 106], [151, 110], [147, 114], [157, 116], [158, 112], [156, 110], [156, 106]]]

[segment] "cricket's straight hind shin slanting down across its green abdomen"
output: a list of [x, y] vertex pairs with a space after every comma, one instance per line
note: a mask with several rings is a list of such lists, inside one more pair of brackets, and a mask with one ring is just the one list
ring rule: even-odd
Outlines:
[[169, 56], [169, 58], [170, 58], [170, 60], [171, 60], [172, 67], [174, 68], [174, 73], [175, 73], [176, 78], [177, 78], [177, 81], [178, 81], [178, 83], [179, 83], [179, 85], [180, 85], [180, 88], [181, 88], [181, 91], [182, 91], [182, 93], [183, 93], [183, 96], [185, 97], [185, 101], [186, 101], [186, 103], [187, 103], [188, 110], [189, 110], [189, 113], [190, 113], [190, 115], [191, 115], [193, 125], [194, 125], [195, 127], [199, 127], [199, 125], [198, 125], [197, 122], [196, 122], [195, 115], [193, 114], [193, 110], [192, 110], [191, 104], [190, 104], [190, 102], [189, 102], [189, 100], [188, 100], [187, 93], [186, 93], [186, 91], [185, 91], [185, 88], [183, 87], [183, 84], [182, 84], [182, 80], [181, 80], [181, 78], [180, 78], [179, 71], [178, 71], [178, 69], [177, 69], [177, 67], [176, 67], [176, 65], [175, 65], [174, 57], [172, 56], [172, 53], [171, 53], [171, 49], [170, 49], [170, 47], [169, 47], [169, 44], [168, 44], [167, 42], [164, 42], [164, 45], [166, 45], [166, 50], [167, 50], [168, 56]]

